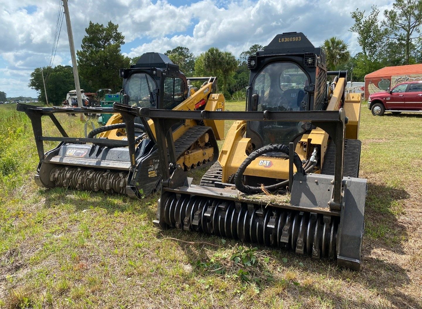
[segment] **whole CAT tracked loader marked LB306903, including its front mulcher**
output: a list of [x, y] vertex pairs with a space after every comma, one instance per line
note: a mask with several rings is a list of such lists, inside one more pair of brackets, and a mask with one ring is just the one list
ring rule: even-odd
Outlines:
[[[277, 35], [248, 68], [244, 112], [138, 110], [154, 121], [163, 175], [154, 224], [360, 269], [360, 94], [346, 94], [346, 72], [327, 72], [324, 51], [303, 33]], [[172, 126], [181, 119], [235, 120], [200, 185], [176, 160]]]

